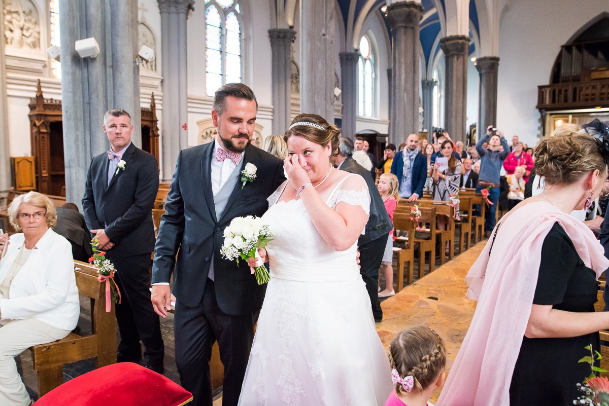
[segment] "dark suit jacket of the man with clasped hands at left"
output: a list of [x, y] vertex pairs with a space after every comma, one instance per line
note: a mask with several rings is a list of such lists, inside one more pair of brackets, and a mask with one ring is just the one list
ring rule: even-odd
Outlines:
[[82, 208], [90, 230], [105, 229], [116, 256], [150, 253], [155, 235], [152, 206], [158, 191], [157, 159], [133, 143], [122, 156], [127, 162], [108, 184], [108, 154], [91, 160]]

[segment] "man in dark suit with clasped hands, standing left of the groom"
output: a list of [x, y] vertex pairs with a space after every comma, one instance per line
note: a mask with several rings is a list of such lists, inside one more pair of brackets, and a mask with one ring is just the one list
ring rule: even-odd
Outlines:
[[114, 264], [121, 291], [116, 321], [121, 333], [117, 360], [138, 362], [163, 373], [164, 346], [158, 315], [150, 306], [150, 253], [154, 249], [152, 205], [158, 191], [157, 159], [131, 142], [131, 116], [122, 109], [104, 115], [111, 150], [91, 160], [82, 198], [86, 225]]

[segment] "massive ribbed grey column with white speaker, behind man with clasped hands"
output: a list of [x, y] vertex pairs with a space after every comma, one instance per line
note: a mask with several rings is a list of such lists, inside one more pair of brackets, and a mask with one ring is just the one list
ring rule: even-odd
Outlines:
[[[141, 145], [135, 85], [138, 5], [136, 0], [60, 0], [59, 6], [66, 199], [80, 205], [91, 157], [109, 147], [102, 129], [105, 111], [127, 110], [136, 128], [133, 143]], [[96, 39], [100, 53], [97, 58], [80, 58], [74, 43], [90, 37]]]

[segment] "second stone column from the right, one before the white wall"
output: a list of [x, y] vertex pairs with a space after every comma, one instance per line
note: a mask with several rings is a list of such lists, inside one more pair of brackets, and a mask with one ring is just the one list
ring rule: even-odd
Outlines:
[[440, 40], [446, 60], [444, 126], [454, 142], [465, 142], [467, 107], [467, 56], [470, 38], [463, 35], [446, 36]]

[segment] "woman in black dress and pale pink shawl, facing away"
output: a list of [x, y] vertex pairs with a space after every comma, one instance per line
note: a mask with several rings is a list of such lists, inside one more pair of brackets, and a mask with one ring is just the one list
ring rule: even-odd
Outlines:
[[465, 278], [476, 312], [438, 406], [572, 405], [609, 312], [594, 312], [604, 250], [569, 216], [599, 195], [609, 141], [587, 134], [544, 140], [535, 171], [546, 189], [495, 226]]

